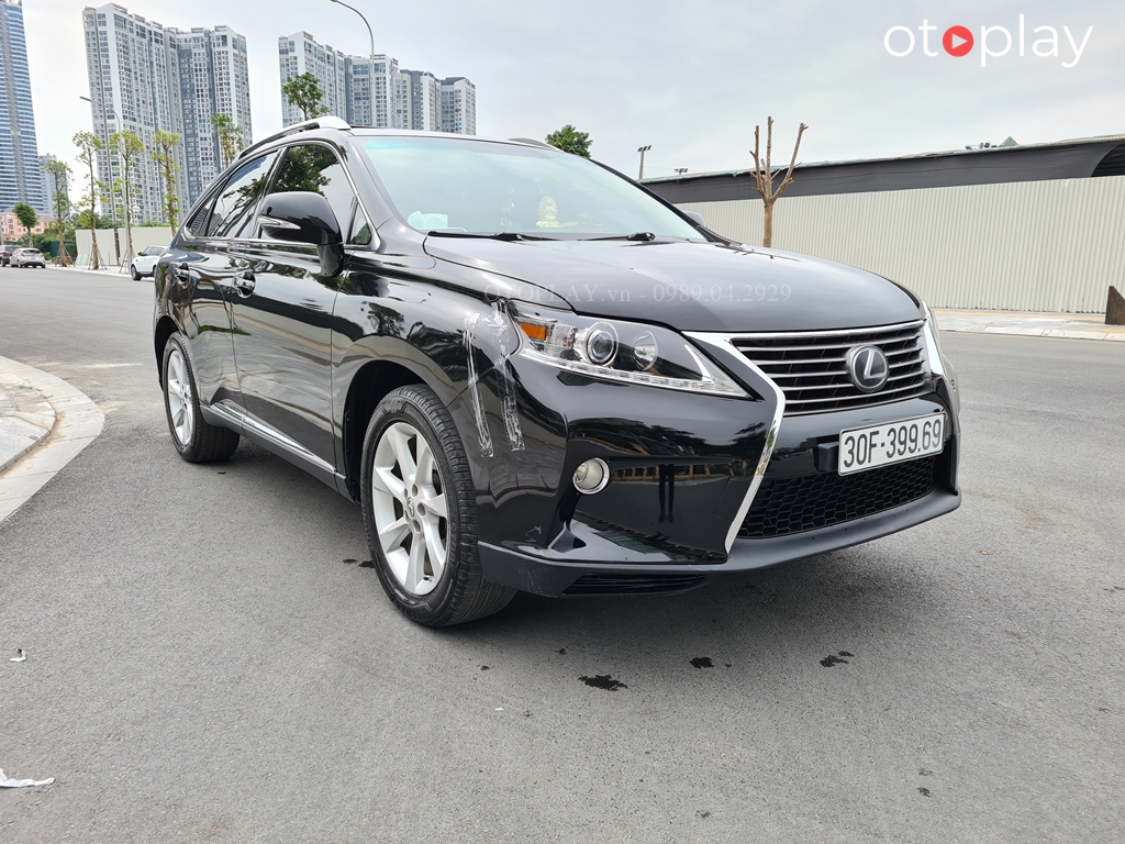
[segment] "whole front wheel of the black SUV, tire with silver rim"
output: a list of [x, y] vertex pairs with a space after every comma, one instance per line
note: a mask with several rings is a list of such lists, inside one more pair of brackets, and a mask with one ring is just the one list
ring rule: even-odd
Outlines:
[[371, 558], [404, 616], [426, 627], [449, 627], [507, 605], [515, 590], [484, 577], [468, 457], [433, 390], [410, 385], [387, 394], [367, 428], [362, 466]]

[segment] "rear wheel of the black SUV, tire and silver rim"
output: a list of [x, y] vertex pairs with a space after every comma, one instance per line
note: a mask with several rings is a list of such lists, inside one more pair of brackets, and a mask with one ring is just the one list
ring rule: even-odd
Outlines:
[[172, 445], [188, 463], [225, 460], [238, 447], [238, 434], [213, 425], [199, 412], [196, 375], [188, 360], [183, 336], [176, 332], [164, 347], [164, 413]]

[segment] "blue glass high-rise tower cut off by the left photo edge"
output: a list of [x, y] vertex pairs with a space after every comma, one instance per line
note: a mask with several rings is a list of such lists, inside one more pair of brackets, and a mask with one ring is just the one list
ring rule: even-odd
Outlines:
[[0, 208], [47, 210], [35, 138], [22, 0], [0, 0]]

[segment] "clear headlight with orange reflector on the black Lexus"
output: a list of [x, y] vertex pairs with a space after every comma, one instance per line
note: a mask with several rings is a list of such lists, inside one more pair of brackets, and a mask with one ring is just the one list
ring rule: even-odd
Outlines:
[[668, 329], [519, 305], [520, 356], [605, 381], [748, 398], [718, 366]]

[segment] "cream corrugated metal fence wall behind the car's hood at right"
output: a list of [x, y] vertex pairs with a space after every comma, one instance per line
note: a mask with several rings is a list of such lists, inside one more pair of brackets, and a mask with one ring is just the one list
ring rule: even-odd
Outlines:
[[[762, 203], [683, 203], [762, 244]], [[935, 307], [1100, 313], [1125, 290], [1125, 176], [782, 197], [776, 249], [863, 267]]]

